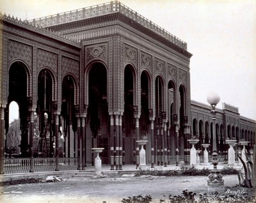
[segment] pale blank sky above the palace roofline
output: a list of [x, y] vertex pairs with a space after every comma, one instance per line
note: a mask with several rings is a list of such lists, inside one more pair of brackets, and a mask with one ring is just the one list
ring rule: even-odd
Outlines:
[[[1, 0], [0, 10], [30, 20], [109, 1]], [[191, 100], [207, 103], [214, 91], [221, 98], [218, 108], [225, 102], [256, 120], [255, 0], [120, 2], [188, 43]]]

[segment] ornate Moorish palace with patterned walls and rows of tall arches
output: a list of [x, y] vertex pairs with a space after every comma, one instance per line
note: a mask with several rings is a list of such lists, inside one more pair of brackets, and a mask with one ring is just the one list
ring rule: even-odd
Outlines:
[[[212, 132], [223, 161], [227, 139], [255, 145], [256, 121], [237, 107], [223, 103], [213, 125], [211, 106], [191, 101], [187, 43], [119, 1], [34, 20], [1, 14], [0, 26], [1, 173], [85, 169], [92, 147], [122, 170], [139, 164], [141, 139], [151, 167], [189, 164], [188, 140], [202, 150]], [[20, 143], [9, 158], [12, 101]]]

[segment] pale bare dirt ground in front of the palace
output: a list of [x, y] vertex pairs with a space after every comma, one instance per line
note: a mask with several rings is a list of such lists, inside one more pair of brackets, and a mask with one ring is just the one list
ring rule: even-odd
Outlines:
[[[164, 195], [180, 195], [182, 190], [206, 192], [207, 176], [171, 177], [68, 177], [53, 183], [6, 185], [1, 188], [0, 202], [121, 202], [123, 198], [151, 195], [159, 202]], [[238, 184], [237, 175], [223, 176], [225, 186]], [[237, 190], [237, 189], [236, 189]], [[250, 190], [252, 192], [252, 190]]]

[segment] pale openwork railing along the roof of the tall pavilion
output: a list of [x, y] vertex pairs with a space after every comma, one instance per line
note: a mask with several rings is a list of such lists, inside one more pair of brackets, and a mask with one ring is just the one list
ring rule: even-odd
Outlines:
[[119, 1], [111, 1], [109, 3], [98, 4], [95, 6], [67, 11], [64, 13], [58, 13], [56, 15], [50, 15], [47, 17], [39, 18], [39, 19], [29, 20], [29, 22], [34, 26], [50, 27], [50, 26], [56, 26], [58, 24], [63, 24], [66, 22], [74, 22], [76, 20], [83, 20], [91, 17], [97, 17], [100, 15], [106, 15], [109, 13], [122, 13], [122, 15], [125, 15], [129, 19], [134, 20], [141, 26], [147, 27], [147, 29], [150, 29], [151, 31], [154, 31], [155, 33], [161, 35], [163, 38], [165, 38], [168, 41], [171, 41], [178, 47], [184, 50], [187, 50], [186, 42], [180, 40], [173, 34], [157, 26], [150, 20], [141, 16], [136, 11], [131, 10], [131, 8], [128, 8], [127, 6], [120, 3]]

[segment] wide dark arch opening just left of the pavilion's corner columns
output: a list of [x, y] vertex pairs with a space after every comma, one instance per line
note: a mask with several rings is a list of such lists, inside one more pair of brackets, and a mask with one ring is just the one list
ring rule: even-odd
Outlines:
[[[106, 66], [99, 62], [93, 63], [86, 70], [86, 76], [88, 79], [88, 109], [86, 117], [88, 128], [86, 128], [84, 135], [86, 139], [82, 140], [82, 142], [83, 144], [85, 142], [85, 145], [90, 147], [104, 147], [106, 150], [101, 154], [102, 163], [108, 163], [110, 140], [108, 136], [109, 116]], [[86, 158], [93, 163], [93, 153], [88, 154]]]

